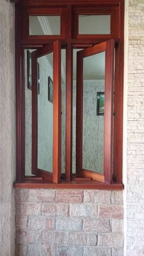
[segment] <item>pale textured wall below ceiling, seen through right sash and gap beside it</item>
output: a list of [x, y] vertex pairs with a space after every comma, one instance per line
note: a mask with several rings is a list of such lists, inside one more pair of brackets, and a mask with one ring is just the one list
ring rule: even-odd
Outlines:
[[[97, 92], [104, 91], [104, 80], [84, 81], [83, 166], [103, 172], [104, 116], [96, 115]], [[92, 135], [92, 136], [91, 136]], [[73, 173], [76, 172], [76, 81], [73, 82]]]

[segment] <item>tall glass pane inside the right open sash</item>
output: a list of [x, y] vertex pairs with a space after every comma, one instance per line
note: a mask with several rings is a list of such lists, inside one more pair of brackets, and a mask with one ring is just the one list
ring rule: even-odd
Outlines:
[[105, 52], [84, 58], [82, 168], [104, 170]]

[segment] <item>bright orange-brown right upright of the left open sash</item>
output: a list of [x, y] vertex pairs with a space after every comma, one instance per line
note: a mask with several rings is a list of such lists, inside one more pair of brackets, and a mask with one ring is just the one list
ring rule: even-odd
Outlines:
[[62, 156], [61, 45], [54, 42], [53, 61], [53, 182], [59, 183]]

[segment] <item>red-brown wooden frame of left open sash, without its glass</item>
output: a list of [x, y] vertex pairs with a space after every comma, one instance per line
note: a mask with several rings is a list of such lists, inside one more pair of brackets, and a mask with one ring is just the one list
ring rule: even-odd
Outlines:
[[[38, 104], [37, 59], [53, 52], [53, 147], [52, 173], [37, 167], [38, 154]], [[32, 174], [59, 183], [61, 175], [61, 45], [60, 41], [45, 45], [32, 52]]]

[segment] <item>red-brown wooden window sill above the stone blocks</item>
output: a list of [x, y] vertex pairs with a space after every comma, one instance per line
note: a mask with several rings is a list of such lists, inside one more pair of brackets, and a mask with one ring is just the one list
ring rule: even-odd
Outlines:
[[62, 181], [56, 184], [41, 178], [24, 178], [21, 182], [13, 184], [16, 189], [103, 189], [103, 190], [123, 190], [122, 183], [106, 184], [92, 180], [73, 180], [70, 182]]

